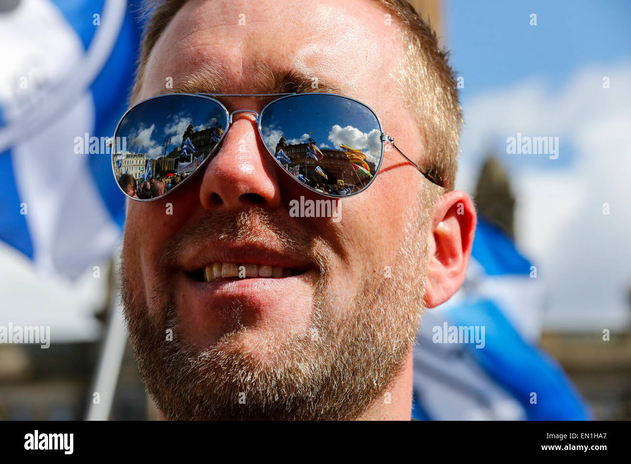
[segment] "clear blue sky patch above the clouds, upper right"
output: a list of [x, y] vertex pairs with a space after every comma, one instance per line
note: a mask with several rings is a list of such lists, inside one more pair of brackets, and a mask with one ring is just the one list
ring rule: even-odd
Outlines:
[[450, 0], [444, 15], [445, 42], [465, 78], [463, 100], [533, 77], [557, 90], [577, 69], [628, 58], [631, 48], [628, 1]]

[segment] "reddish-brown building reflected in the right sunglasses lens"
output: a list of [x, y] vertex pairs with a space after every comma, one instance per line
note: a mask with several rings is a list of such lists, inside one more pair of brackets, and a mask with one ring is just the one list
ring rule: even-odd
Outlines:
[[[360, 174], [360, 172], [353, 169], [353, 165], [348, 160], [343, 150], [331, 150], [330, 148], [320, 147], [324, 158], [318, 161], [307, 154], [307, 148], [309, 148], [308, 143], [285, 145], [283, 142], [284, 138], [281, 138], [278, 145], [276, 145], [276, 153], [274, 154], [278, 155], [278, 151], [282, 148], [285, 155], [292, 160], [289, 166], [292, 167], [300, 164], [300, 174], [304, 175], [307, 179], [315, 178], [317, 182], [322, 185], [337, 184], [338, 180], [353, 186], [363, 186], [370, 182], [370, 175]], [[370, 172], [374, 174], [374, 162], [366, 160], [366, 164], [369, 166]], [[324, 170], [328, 179], [324, 179], [324, 177], [315, 172], [315, 168], [318, 166]]]

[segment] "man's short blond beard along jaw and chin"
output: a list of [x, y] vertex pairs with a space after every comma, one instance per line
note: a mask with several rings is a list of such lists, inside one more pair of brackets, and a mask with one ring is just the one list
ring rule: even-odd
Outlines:
[[[350, 301], [339, 299], [331, 287], [331, 252], [324, 242], [309, 250], [320, 270], [309, 327], [271, 340], [265, 362], [244, 344], [248, 329], [240, 322], [242, 304], [231, 308], [232, 330], [210, 347], [196, 347], [186, 341], [172, 297], [150, 308], [134, 294], [129, 277], [138, 270], [125, 259], [121, 283], [129, 339], [143, 382], [164, 417], [345, 420], [361, 415], [399, 374], [415, 343], [425, 294], [429, 212], [437, 198], [428, 190], [420, 196], [425, 205], [419, 201], [411, 208], [396, 259], [365, 273], [369, 277]], [[244, 237], [239, 224], [254, 215], [264, 211], [241, 213], [222, 234]], [[149, 314], [160, 318], [154, 321]], [[173, 340], [167, 342], [168, 329]]]

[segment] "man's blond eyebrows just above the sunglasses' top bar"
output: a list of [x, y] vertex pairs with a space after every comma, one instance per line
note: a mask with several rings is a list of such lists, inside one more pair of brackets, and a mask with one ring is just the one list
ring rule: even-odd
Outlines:
[[[154, 95], [163, 93], [233, 93], [226, 92], [230, 81], [225, 71], [211, 66], [197, 69], [194, 73], [180, 78], [173, 88], [165, 88]], [[259, 65], [251, 82], [252, 92], [248, 93], [337, 93], [345, 95], [345, 90], [317, 76], [309, 76], [291, 68], [289, 71], [271, 69]]]

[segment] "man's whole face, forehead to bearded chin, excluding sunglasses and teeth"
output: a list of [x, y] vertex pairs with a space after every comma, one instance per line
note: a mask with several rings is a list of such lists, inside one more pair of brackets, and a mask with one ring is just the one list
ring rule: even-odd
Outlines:
[[[384, 15], [365, 0], [189, 1], [153, 49], [139, 100], [208, 68], [227, 79], [216, 92], [263, 93], [261, 69], [293, 68], [370, 105], [422, 162], [391, 77], [403, 47]], [[269, 101], [222, 100], [230, 112]], [[290, 217], [292, 199], [322, 197], [282, 172], [257, 134], [251, 113], [235, 114], [186, 184], [129, 202], [123, 297], [141, 374], [167, 419], [357, 417], [413, 342], [435, 187], [387, 151], [372, 185], [338, 201], [339, 222]], [[203, 282], [213, 263], [292, 275]]]

